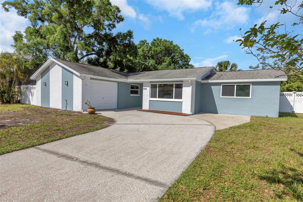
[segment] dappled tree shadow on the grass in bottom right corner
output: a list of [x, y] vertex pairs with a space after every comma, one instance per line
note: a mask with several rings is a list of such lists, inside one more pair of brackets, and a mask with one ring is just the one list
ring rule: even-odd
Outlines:
[[[303, 157], [302, 153], [290, 150]], [[303, 173], [298, 169], [279, 165], [274, 169], [268, 170], [265, 175], [260, 175], [259, 178], [285, 187], [286, 190], [279, 190], [275, 193], [277, 197], [290, 196], [294, 200], [303, 201]]]

